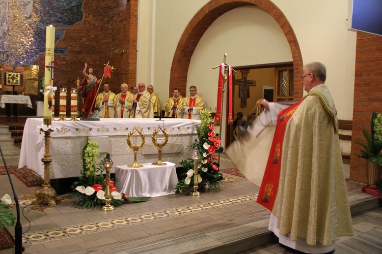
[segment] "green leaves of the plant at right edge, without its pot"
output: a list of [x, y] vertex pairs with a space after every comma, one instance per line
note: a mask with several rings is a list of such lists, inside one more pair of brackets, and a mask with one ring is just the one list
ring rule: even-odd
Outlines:
[[377, 115], [374, 111], [371, 115], [370, 131], [363, 129], [362, 133], [365, 140], [357, 139], [355, 142], [363, 149], [356, 156], [382, 165], [382, 115]]

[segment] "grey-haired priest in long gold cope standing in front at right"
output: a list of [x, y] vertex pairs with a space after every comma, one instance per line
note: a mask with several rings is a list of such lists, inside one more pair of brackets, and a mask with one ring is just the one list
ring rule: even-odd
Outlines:
[[[292, 110], [288, 114], [291, 117], [285, 125], [281, 150], [278, 156], [269, 153], [257, 202], [266, 207], [269, 197], [276, 195], [272, 208], [268, 207], [271, 211], [269, 230], [279, 237], [279, 243], [306, 253], [326, 253], [334, 250], [335, 241], [340, 236], [353, 234], [338, 138], [337, 111], [329, 88], [324, 84], [326, 68], [322, 62], [314, 61], [304, 66], [301, 78], [308, 93], [298, 106], [290, 107]], [[274, 144], [279, 123], [287, 117], [279, 114], [285, 112], [280, 109], [286, 106], [265, 100], [258, 103], [266, 109], [266, 113], [261, 115], [268, 116], [268, 122], [277, 122]], [[258, 118], [257, 125], [267, 123], [264, 117], [263, 121]], [[259, 129], [256, 126], [252, 128]], [[252, 144], [258, 150], [269, 147], [264, 143], [263, 136], [269, 136], [269, 133], [272, 136], [274, 131], [266, 129], [257, 137], [252, 136], [252, 140], [262, 140]], [[257, 130], [254, 134], [258, 133]], [[245, 176], [255, 179], [254, 175], [261, 170], [256, 171], [254, 166], [251, 171], [250, 165], [241, 163], [238, 158], [250, 156], [249, 160], [259, 161], [266, 161], [266, 158], [248, 154], [245, 149], [240, 150], [238, 143], [228, 147], [226, 152], [235, 165], [237, 163], [241, 167], [239, 169]], [[269, 166], [272, 167], [272, 162], [280, 164], [280, 175], [277, 186], [265, 185], [268, 188], [265, 197], [261, 195], [264, 181], [275, 174], [267, 171]]]

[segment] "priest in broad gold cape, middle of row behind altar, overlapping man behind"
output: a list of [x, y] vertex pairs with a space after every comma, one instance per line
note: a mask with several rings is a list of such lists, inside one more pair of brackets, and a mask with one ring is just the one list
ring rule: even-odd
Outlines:
[[135, 94], [132, 100], [132, 114], [130, 118], [154, 118], [153, 104], [151, 95], [146, 90], [144, 83], [138, 84], [139, 92]]

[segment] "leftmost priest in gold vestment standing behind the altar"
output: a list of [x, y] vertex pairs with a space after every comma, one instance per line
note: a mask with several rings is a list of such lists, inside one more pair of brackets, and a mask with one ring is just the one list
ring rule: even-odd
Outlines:
[[108, 83], [103, 84], [103, 92], [98, 93], [96, 106], [101, 109], [100, 118], [116, 118], [117, 117], [117, 94], [110, 90]]

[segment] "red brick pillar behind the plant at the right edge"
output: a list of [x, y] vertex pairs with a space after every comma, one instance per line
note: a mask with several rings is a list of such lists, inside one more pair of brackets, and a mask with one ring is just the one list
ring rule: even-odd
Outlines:
[[373, 111], [382, 113], [382, 37], [357, 33], [356, 73], [354, 81], [353, 128], [350, 156], [350, 180], [366, 183], [366, 160], [354, 156], [361, 146], [362, 130], [370, 130]]

